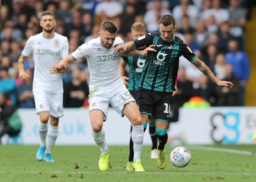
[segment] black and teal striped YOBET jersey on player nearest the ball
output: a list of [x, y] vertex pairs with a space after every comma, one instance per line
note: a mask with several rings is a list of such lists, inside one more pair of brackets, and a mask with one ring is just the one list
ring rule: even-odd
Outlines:
[[156, 45], [156, 52], [148, 52], [140, 86], [152, 91], [173, 92], [179, 69], [179, 57], [188, 61], [196, 59], [195, 54], [178, 36], [173, 35], [172, 42], [165, 42], [161, 33], [148, 33], [134, 40], [136, 49], [144, 45]]

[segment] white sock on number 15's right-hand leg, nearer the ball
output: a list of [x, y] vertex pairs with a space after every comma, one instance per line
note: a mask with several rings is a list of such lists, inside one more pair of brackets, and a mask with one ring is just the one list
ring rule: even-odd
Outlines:
[[133, 150], [134, 150], [133, 161], [134, 162], [137, 162], [140, 160], [143, 138], [144, 138], [143, 125], [132, 126], [132, 141], [133, 141]]

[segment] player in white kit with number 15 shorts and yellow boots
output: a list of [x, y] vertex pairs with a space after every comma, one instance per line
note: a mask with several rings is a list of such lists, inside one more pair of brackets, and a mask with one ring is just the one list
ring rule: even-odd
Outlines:
[[140, 110], [120, 77], [118, 55], [144, 55], [147, 54], [147, 50], [114, 53], [116, 46], [119, 44], [124, 45], [124, 41], [120, 37], [116, 37], [117, 31], [118, 28], [112, 21], [103, 21], [99, 37], [84, 43], [69, 56], [61, 59], [60, 63], [52, 66], [51, 73], [64, 73], [68, 68], [68, 64], [72, 63], [72, 61], [84, 56], [87, 58], [90, 72], [90, 121], [93, 139], [101, 150], [100, 171], [106, 171], [109, 165], [109, 149], [106, 144], [105, 132], [102, 128], [103, 121], [106, 121], [108, 116], [109, 104], [118, 114], [127, 116], [131, 121], [131, 136], [134, 142], [133, 167], [135, 171], [144, 171], [140, 159], [144, 137]]

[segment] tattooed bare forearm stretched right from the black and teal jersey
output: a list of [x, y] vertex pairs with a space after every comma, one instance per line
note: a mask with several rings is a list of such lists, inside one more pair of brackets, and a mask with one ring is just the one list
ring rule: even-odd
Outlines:
[[232, 84], [232, 82], [217, 79], [214, 76], [214, 74], [212, 73], [212, 71], [210, 70], [210, 68], [203, 61], [198, 59], [197, 57], [191, 63], [194, 64], [196, 66], [196, 68], [198, 68], [198, 70], [200, 70], [200, 72], [204, 73], [204, 75], [206, 75], [212, 81], [214, 81], [218, 86], [226, 86], [226, 87], [230, 87], [230, 88], [232, 88], [234, 86], [234, 84]]

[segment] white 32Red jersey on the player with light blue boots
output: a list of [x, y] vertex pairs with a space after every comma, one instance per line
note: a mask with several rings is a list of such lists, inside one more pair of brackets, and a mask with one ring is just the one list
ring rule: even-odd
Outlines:
[[31, 36], [26, 42], [22, 55], [33, 54], [35, 71], [33, 91], [43, 89], [49, 93], [63, 93], [61, 74], [50, 74], [52, 64], [68, 56], [68, 39], [61, 34], [54, 33], [52, 38], [44, 38], [43, 33]]

